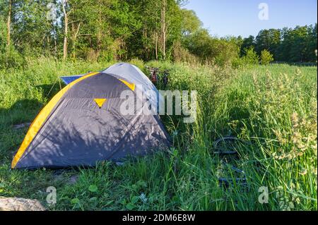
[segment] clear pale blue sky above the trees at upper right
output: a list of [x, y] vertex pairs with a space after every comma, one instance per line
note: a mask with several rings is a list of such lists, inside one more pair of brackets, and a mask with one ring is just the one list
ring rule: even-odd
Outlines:
[[[269, 20], [259, 20], [259, 4], [269, 6]], [[211, 35], [256, 36], [259, 30], [317, 23], [317, 0], [189, 0]]]

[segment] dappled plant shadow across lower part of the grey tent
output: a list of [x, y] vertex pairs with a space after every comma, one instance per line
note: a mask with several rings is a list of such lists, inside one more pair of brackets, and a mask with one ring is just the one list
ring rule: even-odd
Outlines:
[[[81, 120], [85, 120], [83, 116]], [[87, 116], [88, 117], [88, 116]], [[48, 169], [63, 169], [72, 166], [95, 166], [96, 162], [110, 160], [121, 162], [128, 156], [144, 156], [155, 152], [152, 146], [160, 146], [160, 133], [153, 133], [149, 139], [146, 126], [151, 126], [137, 120], [128, 130], [121, 126], [105, 123], [102, 118], [94, 116], [89, 120], [101, 124], [99, 132], [92, 132], [87, 128], [78, 128], [73, 123], [64, 124], [63, 119], [54, 118], [37, 138], [37, 142], [30, 145], [36, 151], [28, 152], [23, 159], [23, 167], [36, 169], [45, 166]], [[105, 128], [107, 127], [107, 128]], [[80, 130], [79, 130], [80, 129]], [[139, 135], [134, 136], [136, 130]], [[134, 138], [132, 138], [134, 136]], [[143, 146], [143, 150], [138, 150]], [[159, 147], [157, 150], [163, 150]], [[26, 161], [26, 162], [25, 162]], [[33, 165], [35, 165], [33, 167]]]

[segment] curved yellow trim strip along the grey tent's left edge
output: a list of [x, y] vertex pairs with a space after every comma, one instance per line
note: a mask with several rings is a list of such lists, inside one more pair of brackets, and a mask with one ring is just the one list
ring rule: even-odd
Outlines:
[[[98, 72], [100, 73], [100, 72]], [[66, 87], [64, 87], [62, 90], [60, 90], [57, 95], [55, 95], [51, 101], [49, 101], [49, 103], [40, 111], [39, 114], [37, 114], [37, 117], [35, 117], [35, 120], [33, 121], [33, 123], [31, 124], [28, 133], [25, 135], [25, 138], [18, 150], [18, 152], [16, 153], [15, 157], [13, 158], [12, 164], [11, 164], [11, 168], [13, 169], [14, 167], [16, 167], [16, 164], [18, 163], [18, 161], [20, 160], [20, 157], [22, 157], [23, 153], [25, 152], [25, 150], [27, 149], [27, 147], [30, 145], [30, 142], [33, 140], [33, 138], [35, 137], [35, 135], [37, 134], [37, 132], [40, 130], [40, 128], [42, 127], [43, 123], [45, 122], [45, 120], [47, 119], [47, 116], [49, 116], [49, 114], [51, 113], [52, 109], [55, 107], [55, 105], [57, 104], [57, 102], [59, 102], [59, 99], [61, 99], [61, 97], [76, 83], [80, 82], [81, 80], [84, 80], [86, 78], [89, 78], [90, 76], [96, 75], [98, 73], [88, 73], [87, 75], [84, 75], [81, 78], [78, 78], [77, 80], [74, 80], [72, 83], [70, 83], [69, 85], [67, 85]]]

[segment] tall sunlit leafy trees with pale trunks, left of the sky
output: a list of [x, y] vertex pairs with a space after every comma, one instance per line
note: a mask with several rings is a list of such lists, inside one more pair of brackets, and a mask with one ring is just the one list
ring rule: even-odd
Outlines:
[[186, 14], [182, 0], [0, 1], [2, 42], [61, 59], [172, 59]]

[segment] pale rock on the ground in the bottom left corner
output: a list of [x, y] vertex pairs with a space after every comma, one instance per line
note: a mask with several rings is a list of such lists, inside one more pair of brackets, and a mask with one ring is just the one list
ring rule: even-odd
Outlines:
[[0, 211], [45, 211], [38, 200], [20, 197], [0, 197]]

